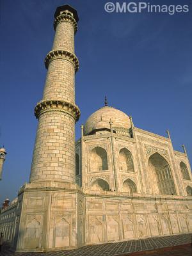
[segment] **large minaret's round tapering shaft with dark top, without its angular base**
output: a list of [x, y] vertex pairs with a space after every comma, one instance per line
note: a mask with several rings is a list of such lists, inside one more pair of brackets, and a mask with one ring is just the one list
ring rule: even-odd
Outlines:
[[75, 182], [75, 123], [80, 111], [75, 104], [74, 53], [78, 15], [69, 5], [56, 9], [52, 51], [45, 58], [47, 78], [43, 99], [36, 105], [38, 119], [29, 182]]

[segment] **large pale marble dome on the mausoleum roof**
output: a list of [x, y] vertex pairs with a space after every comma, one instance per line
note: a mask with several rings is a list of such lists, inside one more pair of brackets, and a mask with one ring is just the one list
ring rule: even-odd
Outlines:
[[113, 127], [120, 127], [124, 129], [129, 129], [131, 127], [131, 122], [129, 116], [124, 112], [109, 106], [104, 106], [103, 108], [95, 111], [84, 125], [84, 134], [88, 135], [95, 129], [110, 129], [109, 122], [113, 122]]

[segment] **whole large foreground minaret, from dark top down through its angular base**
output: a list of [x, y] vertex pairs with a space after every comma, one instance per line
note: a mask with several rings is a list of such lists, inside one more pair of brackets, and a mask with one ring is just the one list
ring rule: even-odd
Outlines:
[[[64, 5], [54, 14], [56, 30], [45, 58], [44, 95], [35, 107], [38, 119], [29, 183], [19, 191], [15, 247], [17, 251], [76, 248], [83, 244], [82, 192], [75, 184], [74, 53], [78, 15]], [[17, 239], [18, 237], [18, 239]]]

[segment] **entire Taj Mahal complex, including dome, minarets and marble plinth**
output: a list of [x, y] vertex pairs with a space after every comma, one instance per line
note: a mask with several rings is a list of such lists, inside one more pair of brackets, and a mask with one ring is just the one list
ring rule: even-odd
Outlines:
[[[54, 13], [31, 173], [1, 209], [4, 239], [17, 252], [49, 252], [192, 232], [191, 167], [169, 131], [163, 137], [135, 127], [106, 99], [75, 141], [78, 20], [69, 5]], [[5, 154], [1, 148], [0, 173]]]

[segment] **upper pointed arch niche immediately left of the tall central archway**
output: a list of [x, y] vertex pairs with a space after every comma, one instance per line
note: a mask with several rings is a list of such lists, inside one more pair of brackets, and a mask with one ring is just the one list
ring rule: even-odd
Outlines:
[[126, 172], [134, 172], [132, 154], [127, 148], [122, 148], [119, 152], [119, 169]]

